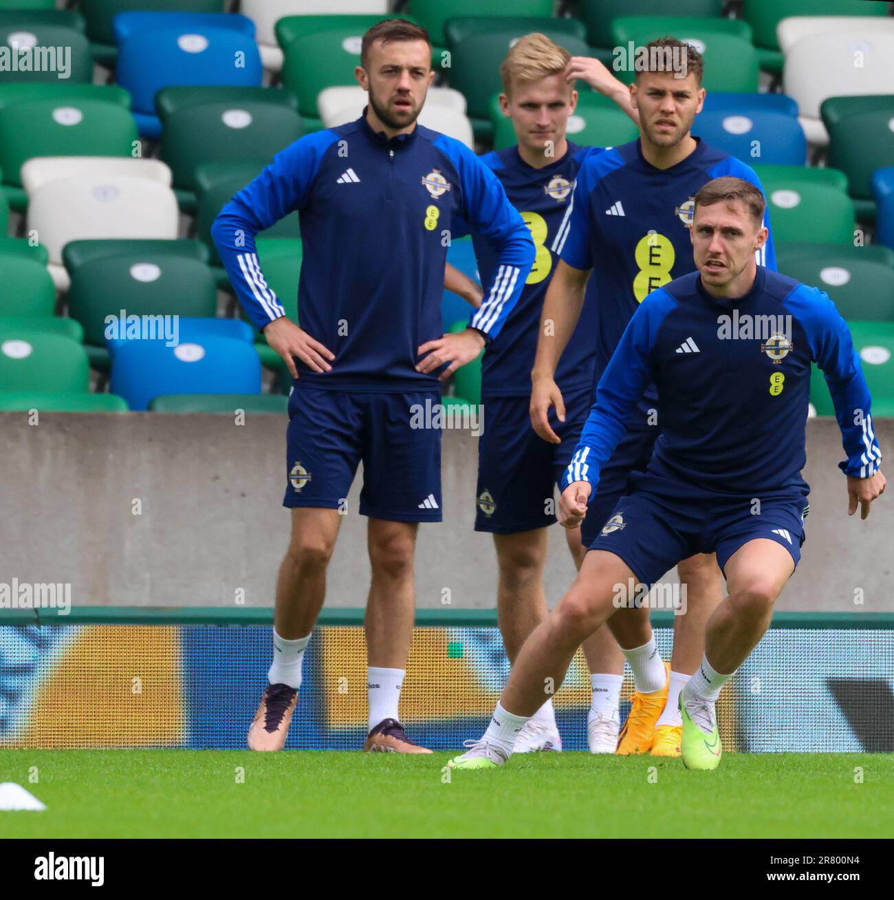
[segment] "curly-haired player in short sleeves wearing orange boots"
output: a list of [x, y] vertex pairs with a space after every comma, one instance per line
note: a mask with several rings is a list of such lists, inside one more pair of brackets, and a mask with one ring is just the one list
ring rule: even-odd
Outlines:
[[[559, 423], [573, 409], [555, 373], [564, 365], [568, 351], [563, 350], [581, 315], [585, 285], [599, 298], [595, 385], [639, 303], [672, 278], [693, 272], [689, 227], [694, 194], [720, 175], [736, 175], [760, 187], [751, 168], [693, 138], [705, 95], [698, 52], [674, 38], [652, 41], [647, 49], [648, 68], [637, 71], [630, 85], [631, 103], [639, 110], [639, 139], [589, 157], [581, 166], [568, 222], [553, 246], [561, 260], [543, 304], [532, 371], [531, 419], [537, 433], [555, 443], [559, 435], [549, 419], [550, 408], [557, 410]], [[684, 60], [685, 66], [675, 68], [675, 60]], [[775, 268], [772, 236], [758, 249], [756, 259]], [[600, 490], [582, 524], [585, 548], [593, 545], [626, 492], [630, 473], [648, 465], [662, 424], [658, 400], [650, 384], [631, 410], [626, 433], [603, 467]], [[678, 572], [686, 605], [684, 615], [674, 620], [670, 666], [657, 651], [648, 608], [624, 609], [612, 619], [636, 689], [616, 741], [620, 754], [680, 755], [683, 723], [676, 701], [702, 659], [704, 627], [723, 598], [723, 586], [711, 554], [681, 560]], [[597, 646], [587, 653], [594, 673], [588, 721], [591, 731], [598, 728], [617, 738], [623, 659], [611, 645], [603, 642], [601, 647], [601, 652]]]

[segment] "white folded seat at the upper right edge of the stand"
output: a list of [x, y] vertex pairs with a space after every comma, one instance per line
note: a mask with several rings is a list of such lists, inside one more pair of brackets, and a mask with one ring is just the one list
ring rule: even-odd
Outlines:
[[825, 146], [828, 134], [819, 117], [827, 97], [894, 92], [894, 32], [863, 26], [859, 30], [808, 34], [785, 54], [784, 92], [800, 109], [808, 143]]

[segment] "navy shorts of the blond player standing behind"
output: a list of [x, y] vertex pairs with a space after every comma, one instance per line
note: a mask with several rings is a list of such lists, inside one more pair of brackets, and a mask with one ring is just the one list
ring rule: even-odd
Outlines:
[[561, 444], [550, 444], [534, 431], [529, 397], [485, 401], [484, 431], [478, 439], [476, 531], [514, 535], [556, 521], [554, 488], [574, 455], [592, 390], [586, 385], [563, 392], [564, 422], [550, 410], [550, 427]]

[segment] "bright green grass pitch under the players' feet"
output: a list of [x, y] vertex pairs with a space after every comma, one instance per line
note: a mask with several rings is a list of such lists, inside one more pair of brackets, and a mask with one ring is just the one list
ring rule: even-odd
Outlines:
[[[10, 837], [888, 837], [894, 754], [678, 760], [515, 756], [452, 772], [450, 753], [0, 751], [0, 782], [42, 813]], [[37, 782], [30, 780], [36, 767]], [[244, 780], [240, 781], [240, 772]], [[862, 783], [861, 783], [862, 773]]]

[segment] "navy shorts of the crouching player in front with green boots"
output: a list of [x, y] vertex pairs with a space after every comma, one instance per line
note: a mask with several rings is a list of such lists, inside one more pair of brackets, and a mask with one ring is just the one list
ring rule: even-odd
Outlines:
[[590, 549], [620, 556], [649, 586], [693, 554], [716, 553], [726, 574], [729, 557], [758, 537], [785, 547], [798, 565], [809, 510], [801, 491], [718, 494], [651, 473], [630, 485]]

